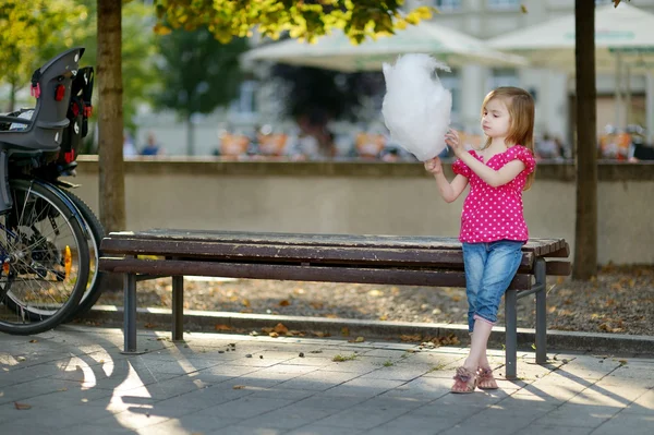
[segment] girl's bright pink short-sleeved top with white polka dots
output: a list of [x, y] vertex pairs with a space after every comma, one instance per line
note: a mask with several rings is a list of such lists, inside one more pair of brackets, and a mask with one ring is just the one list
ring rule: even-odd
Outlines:
[[[474, 150], [470, 154], [483, 162], [482, 157]], [[522, 212], [522, 189], [526, 183], [526, 176], [536, 167], [534, 156], [529, 148], [514, 145], [491, 157], [486, 165], [498, 170], [514, 159], [524, 164], [524, 170], [512, 181], [499, 188], [488, 185], [460, 159], [455, 161], [452, 165], [455, 173], [468, 178], [470, 182], [470, 193], [461, 213], [459, 241], [464, 243], [488, 243], [498, 240], [526, 242], [529, 229]]]

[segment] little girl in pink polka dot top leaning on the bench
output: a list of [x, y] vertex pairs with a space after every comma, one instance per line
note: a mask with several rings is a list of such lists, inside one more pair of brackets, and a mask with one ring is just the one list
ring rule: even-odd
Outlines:
[[457, 200], [470, 182], [459, 240], [463, 246], [471, 345], [463, 365], [457, 368], [452, 392], [472, 392], [477, 386], [497, 388], [486, 345], [501, 297], [518, 270], [522, 245], [529, 239], [522, 191], [531, 185], [536, 165], [532, 96], [517, 87], [492, 90], [482, 105], [482, 128], [486, 143], [476, 150], [467, 152], [456, 131], [446, 134], [446, 143], [458, 157], [451, 183], [438, 157], [425, 161], [425, 169], [434, 174], [440, 196], [448, 203]]

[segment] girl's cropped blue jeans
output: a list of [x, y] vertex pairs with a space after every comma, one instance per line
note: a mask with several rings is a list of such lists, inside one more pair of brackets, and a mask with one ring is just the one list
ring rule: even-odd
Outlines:
[[512, 240], [463, 243], [469, 331], [474, 329], [476, 318], [497, 322], [501, 297], [518, 271], [523, 244]]

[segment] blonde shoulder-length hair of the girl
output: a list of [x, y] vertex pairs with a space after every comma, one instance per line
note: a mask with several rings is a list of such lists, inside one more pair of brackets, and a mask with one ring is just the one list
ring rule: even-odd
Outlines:
[[[522, 145], [526, 147], [532, 156], [534, 154], [534, 98], [524, 89], [512, 86], [502, 86], [491, 90], [484, 102], [482, 104], [482, 117], [484, 110], [492, 99], [501, 99], [509, 111], [511, 118], [509, 124], [509, 134], [505, 143], [513, 145]], [[491, 145], [491, 137], [486, 137], [486, 145]], [[535, 169], [526, 177], [524, 190], [531, 188], [535, 178]]]

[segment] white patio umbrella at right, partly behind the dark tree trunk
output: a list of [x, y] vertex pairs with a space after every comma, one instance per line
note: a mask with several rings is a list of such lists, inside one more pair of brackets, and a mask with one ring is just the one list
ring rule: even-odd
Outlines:
[[[492, 38], [488, 46], [529, 58], [532, 67], [574, 70], [574, 14]], [[625, 62], [632, 71], [654, 68], [654, 14], [620, 2], [595, 10], [595, 68], [614, 72]]]

